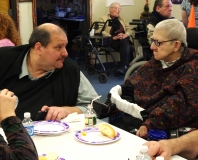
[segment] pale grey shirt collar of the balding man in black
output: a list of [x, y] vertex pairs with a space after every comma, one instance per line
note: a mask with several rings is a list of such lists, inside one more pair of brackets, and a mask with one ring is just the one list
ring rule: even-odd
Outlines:
[[52, 71], [48, 71], [46, 72], [43, 76], [39, 77], [39, 78], [34, 78], [32, 77], [29, 72], [28, 72], [28, 69], [27, 69], [27, 55], [29, 54], [29, 50], [27, 51], [27, 53], [25, 54], [25, 57], [23, 59], [23, 63], [22, 63], [22, 68], [21, 68], [21, 74], [19, 75], [19, 79], [25, 77], [25, 76], [28, 76], [28, 78], [31, 80], [31, 81], [35, 81], [35, 80], [38, 80], [42, 77], [45, 77], [46, 79], [49, 78], [52, 73], [54, 72], [54, 70]]

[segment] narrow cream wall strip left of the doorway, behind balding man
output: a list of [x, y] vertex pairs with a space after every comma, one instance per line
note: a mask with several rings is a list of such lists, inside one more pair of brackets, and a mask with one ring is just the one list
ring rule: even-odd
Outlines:
[[19, 26], [22, 44], [27, 44], [33, 30], [32, 2], [19, 2]]

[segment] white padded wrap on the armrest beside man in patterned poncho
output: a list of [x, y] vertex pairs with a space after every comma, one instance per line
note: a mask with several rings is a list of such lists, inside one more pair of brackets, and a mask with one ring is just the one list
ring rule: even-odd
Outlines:
[[116, 85], [115, 87], [113, 87], [110, 90], [110, 93], [111, 93], [111, 102], [116, 104], [116, 107], [119, 110], [121, 110], [135, 118], [143, 120], [140, 112], [143, 111], [144, 109], [141, 108], [140, 106], [138, 106], [137, 104], [130, 103], [130, 102], [122, 99], [120, 97], [120, 95], [122, 94], [122, 88], [120, 85]]

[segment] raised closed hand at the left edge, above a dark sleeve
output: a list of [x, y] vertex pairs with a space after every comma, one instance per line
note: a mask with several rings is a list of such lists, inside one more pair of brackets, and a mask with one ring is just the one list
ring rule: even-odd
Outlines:
[[7, 117], [16, 116], [16, 101], [17, 97], [14, 96], [13, 92], [7, 89], [0, 92], [0, 122]]

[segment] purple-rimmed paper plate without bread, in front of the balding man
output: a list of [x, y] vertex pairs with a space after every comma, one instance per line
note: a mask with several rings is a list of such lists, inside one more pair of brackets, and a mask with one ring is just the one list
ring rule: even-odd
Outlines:
[[69, 130], [69, 125], [61, 121], [36, 121], [34, 122], [34, 134], [58, 135]]

